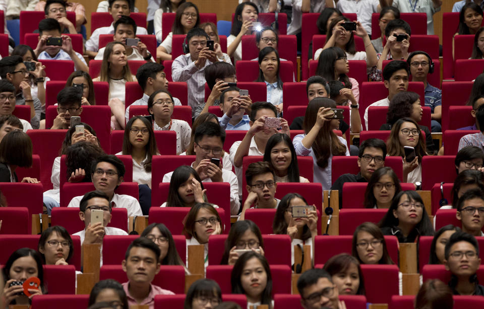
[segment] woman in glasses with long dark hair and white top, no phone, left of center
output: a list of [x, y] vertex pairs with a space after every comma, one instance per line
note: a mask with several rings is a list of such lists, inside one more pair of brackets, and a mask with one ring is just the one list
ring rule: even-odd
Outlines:
[[142, 116], [130, 119], [126, 124], [123, 150], [116, 155], [133, 158], [133, 182], [151, 188], [151, 161], [158, 155], [155, 133], [150, 121]]

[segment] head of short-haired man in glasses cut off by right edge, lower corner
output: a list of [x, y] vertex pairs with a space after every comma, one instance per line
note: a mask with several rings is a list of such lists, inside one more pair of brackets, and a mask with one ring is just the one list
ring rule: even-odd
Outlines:
[[471, 189], [457, 201], [456, 218], [462, 222], [462, 231], [473, 236], [484, 236], [484, 192]]

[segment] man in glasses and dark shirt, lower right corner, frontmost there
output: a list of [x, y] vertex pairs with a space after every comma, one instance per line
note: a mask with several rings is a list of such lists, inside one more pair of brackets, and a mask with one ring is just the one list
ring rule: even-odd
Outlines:
[[464, 231], [456, 231], [445, 245], [445, 269], [452, 273], [449, 287], [454, 295], [484, 296], [484, 286], [478, 284], [479, 245]]

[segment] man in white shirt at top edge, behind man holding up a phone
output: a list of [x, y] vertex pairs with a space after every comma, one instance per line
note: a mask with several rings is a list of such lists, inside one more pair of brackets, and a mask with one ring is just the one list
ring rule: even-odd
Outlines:
[[[109, 13], [113, 23], [109, 27], [101, 27], [94, 30], [89, 40], [86, 41], [86, 55], [95, 57], [99, 49], [99, 35], [114, 34], [114, 23], [122, 16], [130, 15], [130, 3], [128, 0], [109, 0]], [[148, 34], [146, 28], [137, 27], [136, 34]]]

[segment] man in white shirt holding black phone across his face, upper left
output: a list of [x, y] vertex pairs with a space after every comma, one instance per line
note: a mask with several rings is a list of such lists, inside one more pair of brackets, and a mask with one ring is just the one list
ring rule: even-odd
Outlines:
[[[60, 39], [61, 45], [47, 45], [49, 40]], [[34, 49], [39, 60], [72, 60], [74, 70], [81, 70], [89, 73], [84, 57], [74, 51], [71, 38], [61, 35], [61, 25], [53, 18], [46, 18], [39, 23], [39, 43]]]

